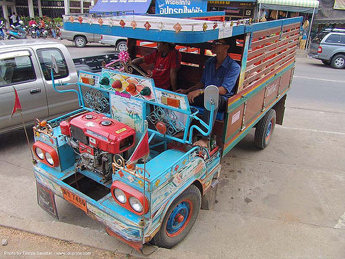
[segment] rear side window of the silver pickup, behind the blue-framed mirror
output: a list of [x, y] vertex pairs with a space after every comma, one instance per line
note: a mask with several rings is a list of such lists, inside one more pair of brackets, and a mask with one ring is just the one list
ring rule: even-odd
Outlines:
[[52, 55], [57, 59], [57, 66], [59, 67], [59, 73], [55, 73], [53, 70], [54, 79], [60, 79], [68, 76], [68, 66], [65, 57], [58, 48], [45, 48], [42, 50], [37, 50], [37, 55], [39, 56], [39, 63], [43, 70], [43, 75], [46, 80], [51, 80], [51, 70], [52, 70]]

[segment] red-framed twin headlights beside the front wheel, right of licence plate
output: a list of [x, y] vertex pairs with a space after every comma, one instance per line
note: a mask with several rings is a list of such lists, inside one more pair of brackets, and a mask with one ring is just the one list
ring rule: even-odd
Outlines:
[[120, 181], [115, 181], [112, 183], [111, 193], [112, 198], [114, 198], [118, 204], [126, 209], [139, 215], [148, 212], [148, 199], [144, 197], [143, 193], [132, 188], [131, 186], [128, 186]]

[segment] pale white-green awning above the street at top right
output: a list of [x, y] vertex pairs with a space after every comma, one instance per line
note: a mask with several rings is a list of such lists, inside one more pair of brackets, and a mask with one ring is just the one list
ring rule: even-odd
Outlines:
[[287, 12], [308, 12], [315, 13], [319, 8], [319, 1], [316, 0], [257, 0], [262, 9], [282, 10]]

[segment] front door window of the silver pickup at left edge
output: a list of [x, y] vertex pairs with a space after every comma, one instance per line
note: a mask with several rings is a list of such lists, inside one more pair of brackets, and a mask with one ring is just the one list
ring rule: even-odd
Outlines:
[[0, 60], [0, 87], [34, 80], [36, 75], [29, 56]]

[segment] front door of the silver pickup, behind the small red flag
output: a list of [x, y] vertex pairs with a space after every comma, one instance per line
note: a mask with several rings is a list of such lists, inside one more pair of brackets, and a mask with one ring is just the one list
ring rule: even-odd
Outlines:
[[10, 119], [14, 106], [14, 87], [21, 103], [24, 122], [32, 123], [35, 118], [48, 116], [46, 88], [37, 68], [39, 64], [31, 48], [0, 52], [0, 133], [22, 126], [20, 115]]

